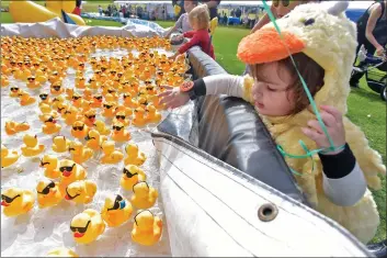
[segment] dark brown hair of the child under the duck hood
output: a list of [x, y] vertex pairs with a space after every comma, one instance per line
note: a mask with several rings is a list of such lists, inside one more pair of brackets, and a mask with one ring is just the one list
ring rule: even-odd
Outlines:
[[[304, 78], [311, 96], [315, 96], [323, 86], [325, 70], [314, 59], [305, 55], [304, 53], [297, 53], [293, 55], [293, 59], [299, 70], [299, 74]], [[294, 103], [295, 108], [291, 114], [297, 114], [309, 105], [309, 99], [304, 90], [303, 83], [297, 75], [296, 68], [293, 65], [291, 57], [281, 59], [278, 63], [280, 69], [286, 68], [291, 75], [293, 75], [289, 87], [286, 90], [294, 91]], [[250, 65], [251, 76], [257, 80], [264, 80], [261, 68], [265, 64]]]

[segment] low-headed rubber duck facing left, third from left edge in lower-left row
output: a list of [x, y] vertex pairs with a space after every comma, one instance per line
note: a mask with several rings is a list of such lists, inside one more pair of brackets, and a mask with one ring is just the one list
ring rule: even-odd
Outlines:
[[78, 180], [66, 188], [65, 199], [77, 204], [87, 204], [93, 201], [96, 184], [90, 180]]

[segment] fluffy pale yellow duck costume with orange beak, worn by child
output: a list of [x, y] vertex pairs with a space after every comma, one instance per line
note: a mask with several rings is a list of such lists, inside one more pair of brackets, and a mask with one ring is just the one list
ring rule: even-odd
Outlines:
[[[317, 106], [335, 106], [346, 113], [350, 93], [349, 80], [355, 58], [356, 27], [346, 19], [348, 2], [338, 2], [331, 8], [321, 3], [296, 7], [288, 15], [276, 21], [282, 38], [270, 23], [244, 37], [238, 47], [238, 57], [246, 64], [261, 64], [287, 58], [288, 53], [303, 52], [325, 69], [325, 85], [315, 94]], [[287, 45], [287, 48], [285, 46]], [[243, 98], [253, 103], [251, 89], [253, 79], [244, 78]], [[289, 116], [261, 115], [275, 142], [292, 155], [305, 155], [301, 139], [308, 149], [317, 149], [316, 143], [303, 134], [301, 127], [316, 115], [308, 109]], [[367, 180], [367, 186], [380, 189], [378, 175], [386, 175], [380, 155], [369, 148], [364, 133], [349, 119], [343, 117], [345, 138]], [[316, 210], [339, 222], [361, 242], [371, 240], [379, 224], [379, 215], [369, 190], [353, 206], [338, 206], [323, 193], [322, 166], [318, 155], [295, 159], [285, 157], [287, 165], [301, 173], [296, 180]]]

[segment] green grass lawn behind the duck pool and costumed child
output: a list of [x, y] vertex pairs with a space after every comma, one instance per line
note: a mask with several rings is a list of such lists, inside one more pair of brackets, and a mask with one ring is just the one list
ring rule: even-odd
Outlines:
[[[96, 5], [93, 2], [91, 5]], [[87, 8], [88, 4], [83, 7]], [[91, 7], [93, 8], [93, 7]], [[1, 13], [1, 23], [11, 23], [9, 13]], [[89, 21], [89, 20], [88, 20]], [[158, 22], [163, 27], [169, 27], [173, 22]], [[90, 20], [88, 25], [122, 26], [118, 22]], [[219, 26], [214, 36], [214, 48], [217, 61], [230, 74], [240, 75], [244, 65], [237, 59], [237, 47], [240, 40], [249, 33], [240, 27]], [[348, 100], [348, 116], [365, 132], [371, 147], [378, 150], [386, 162], [386, 102], [383, 102], [376, 92], [361, 81], [360, 89], [353, 89]], [[374, 197], [380, 214], [380, 226], [374, 242], [386, 239], [386, 179], [383, 178], [383, 189], [374, 191]]]

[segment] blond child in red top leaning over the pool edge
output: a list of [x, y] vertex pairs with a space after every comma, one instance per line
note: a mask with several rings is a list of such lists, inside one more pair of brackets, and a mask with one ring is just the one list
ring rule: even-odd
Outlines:
[[180, 54], [185, 53], [193, 46], [200, 46], [204, 53], [215, 59], [214, 46], [210, 42], [209, 36], [209, 13], [206, 4], [200, 4], [192, 9], [189, 14], [189, 21], [193, 29], [191, 32], [185, 32], [178, 40], [183, 37], [191, 38], [187, 43], [182, 45], [179, 51], [171, 56], [171, 59], [175, 59]]

